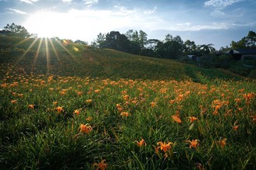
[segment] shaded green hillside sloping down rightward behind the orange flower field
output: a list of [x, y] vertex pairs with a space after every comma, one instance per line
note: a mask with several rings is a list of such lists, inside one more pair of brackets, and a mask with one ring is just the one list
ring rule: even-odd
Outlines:
[[[98, 49], [67, 41], [1, 38], [0, 62], [28, 75], [88, 76], [91, 78], [192, 79], [235, 78], [229, 71], [197, 68], [168, 59]], [[3, 64], [5, 63], [5, 64]], [[4, 69], [6, 71], [6, 68]], [[3, 72], [5, 75], [8, 72]]]

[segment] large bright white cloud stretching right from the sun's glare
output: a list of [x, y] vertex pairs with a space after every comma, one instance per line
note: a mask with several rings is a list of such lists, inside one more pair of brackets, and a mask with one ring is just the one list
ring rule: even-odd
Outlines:
[[193, 24], [163, 20], [160, 16], [148, 15], [143, 10], [116, 6], [115, 10], [71, 9], [68, 12], [38, 12], [30, 16], [24, 26], [30, 33], [44, 36], [59, 36], [72, 40], [91, 42], [98, 33], [128, 29], [141, 29], [146, 33], [154, 30], [198, 31], [201, 29], [228, 29], [226, 23]]

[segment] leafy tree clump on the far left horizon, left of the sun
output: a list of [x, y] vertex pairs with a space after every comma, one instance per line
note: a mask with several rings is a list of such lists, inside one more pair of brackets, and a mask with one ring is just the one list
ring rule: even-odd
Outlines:
[[12, 23], [12, 25], [7, 24], [4, 27], [5, 31], [2, 31], [1, 34], [5, 34], [7, 36], [19, 36], [23, 38], [27, 38], [30, 35], [30, 33], [27, 32], [27, 29], [25, 29], [24, 26], [16, 25], [15, 23]]

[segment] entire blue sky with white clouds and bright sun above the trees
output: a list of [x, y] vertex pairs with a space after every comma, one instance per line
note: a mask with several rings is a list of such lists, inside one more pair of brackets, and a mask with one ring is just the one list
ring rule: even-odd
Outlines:
[[169, 33], [197, 45], [230, 46], [256, 32], [255, 0], [0, 0], [0, 29], [15, 23], [39, 37], [91, 43], [99, 33]]

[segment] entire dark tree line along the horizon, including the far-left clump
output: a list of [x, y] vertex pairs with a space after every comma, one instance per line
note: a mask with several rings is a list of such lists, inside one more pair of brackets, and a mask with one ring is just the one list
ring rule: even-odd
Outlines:
[[[34, 36], [27, 32], [23, 26], [12, 23], [7, 24], [4, 29], [0, 30], [2, 36], [20, 36], [23, 38]], [[76, 40], [74, 43], [87, 44], [82, 40]], [[167, 34], [165, 40], [148, 39], [148, 34], [144, 31], [129, 29], [126, 33], [119, 31], [111, 31], [110, 33], [99, 33], [97, 39], [91, 43], [93, 47], [110, 48], [130, 54], [140, 54], [150, 57], [162, 57], [178, 59], [187, 55], [208, 56], [215, 54], [223, 54], [230, 48], [256, 48], [256, 33], [249, 31], [239, 41], [232, 41], [230, 47], [221, 47], [215, 50], [214, 44], [197, 45], [193, 40], [183, 41], [180, 36], [172, 36]]]

